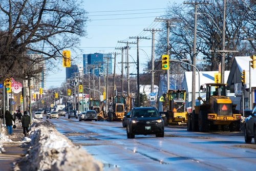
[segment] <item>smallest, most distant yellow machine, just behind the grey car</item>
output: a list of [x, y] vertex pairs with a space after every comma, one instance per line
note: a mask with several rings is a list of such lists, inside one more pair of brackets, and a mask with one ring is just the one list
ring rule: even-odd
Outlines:
[[101, 102], [100, 100], [89, 101], [89, 109], [96, 111], [99, 121], [103, 121], [104, 119], [106, 119], [105, 113], [103, 111], [103, 105], [103, 102]]

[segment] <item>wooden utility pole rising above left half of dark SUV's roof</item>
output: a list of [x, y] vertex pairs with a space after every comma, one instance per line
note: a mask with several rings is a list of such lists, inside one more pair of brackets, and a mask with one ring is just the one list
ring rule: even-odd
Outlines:
[[140, 106], [140, 65], [139, 65], [139, 39], [150, 39], [147, 37], [131, 36], [137, 39], [137, 107]]

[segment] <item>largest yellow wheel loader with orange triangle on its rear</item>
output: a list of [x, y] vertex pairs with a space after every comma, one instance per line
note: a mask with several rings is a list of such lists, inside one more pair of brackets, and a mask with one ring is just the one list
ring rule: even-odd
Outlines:
[[230, 132], [240, 130], [241, 114], [227, 97], [226, 83], [206, 83], [206, 99], [199, 97], [198, 100], [203, 103], [188, 114], [188, 131], [208, 132], [220, 127], [226, 131], [227, 126]]

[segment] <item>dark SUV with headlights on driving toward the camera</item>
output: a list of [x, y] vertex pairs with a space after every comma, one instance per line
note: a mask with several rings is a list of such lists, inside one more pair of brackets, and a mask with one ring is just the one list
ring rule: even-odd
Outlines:
[[130, 115], [126, 115], [127, 138], [135, 138], [135, 135], [156, 134], [156, 137], [164, 137], [164, 123], [158, 110], [154, 107], [133, 108]]

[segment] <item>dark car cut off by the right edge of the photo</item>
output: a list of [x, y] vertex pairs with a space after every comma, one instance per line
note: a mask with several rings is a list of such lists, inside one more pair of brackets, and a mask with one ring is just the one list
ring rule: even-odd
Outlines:
[[256, 106], [253, 109], [250, 116], [245, 119], [244, 139], [246, 143], [251, 143], [251, 139], [254, 137], [254, 143], [256, 144]]

